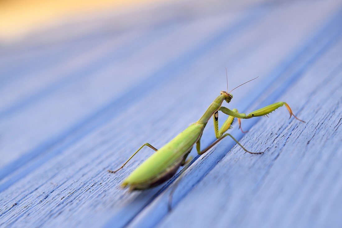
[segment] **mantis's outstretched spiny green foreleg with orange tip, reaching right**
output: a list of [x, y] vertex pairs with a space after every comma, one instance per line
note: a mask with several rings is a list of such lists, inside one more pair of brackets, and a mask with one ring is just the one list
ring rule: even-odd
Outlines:
[[227, 114], [228, 116], [232, 116], [232, 117], [236, 117], [236, 118], [240, 118], [240, 119], [249, 119], [252, 117], [258, 117], [258, 116], [266, 116], [267, 114], [273, 112], [274, 110], [276, 110], [277, 108], [281, 107], [285, 105], [285, 107], [287, 108], [287, 110], [290, 113], [290, 118], [291, 116], [293, 116], [294, 118], [296, 118], [297, 120], [304, 122], [303, 120], [298, 119], [292, 112], [290, 106], [288, 104], [286, 104], [285, 102], [277, 102], [274, 103], [272, 105], [267, 105], [263, 108], [260, 108], [258, 110], [252, 111], [250, 113], [248, 113], [248, 115], [246, 115], [245, 113], [237, 113], [234, 110], [230, 110], [226, 107], [221, 106], [221, 108], [219, 109], [220, 111], [222, 111], [223, 113]]

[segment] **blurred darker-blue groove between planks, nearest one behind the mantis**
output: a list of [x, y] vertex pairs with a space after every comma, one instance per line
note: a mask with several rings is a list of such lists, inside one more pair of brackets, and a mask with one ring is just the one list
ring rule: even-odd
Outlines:
[[[153, 88], [156, 88], [159, 85], [161, 85], [161, 83], [166, 83], [167, 79], [172, 80], [173, 79], [172, 76], [174, 76], [177, 71], [182, 70], [183, 67], [186, 66], [189, 62], [192, 62], [195, 59], [199, 58], [202, 53], [206, 53], [206, 51], [213, 48], [213, 46], [218, 45], [220, 42], [222, 42], [222, 40], [226, 39], [227, 37], [229, 36], [233, 37], [234, 34], [238, 30], [245, 29], [252, 22], [255, 22], [255, 20], [258, 17], [262, 16], [264, 12], [265, 11], [263, 9], [259, 9], [259, 10], [253, 11], [252, 13], [248, 13], [245, 18], [243, 18], [239, 23], [237, 23], [233, 27], [227, 27], [226, 29], [223, 29], [219, 34], [213, 36], [211, 39], [209, 39], [205, 43], [199, 45], [198, 48], [194, 50], [190, 50], [189, 52], [185, 53], [183, 56], [179, 56], [177, 59], [174, 59], [170, 63], [167, 63], [165, 66], [162, 66], [159, 70], [154, 72], [153, 75], [150, 75], [149, 77], [147, 77], [147, 80], [143, 81], [142, 83], [138, 85], [135, 85], [129, 91], [122, 94], [120, 97], [116, 98], [113, 102], [106, 105], [103, 109], [96, 112], [94, 115], [90, 116], [89, 118], [86, 118], [86, 120], [83, 120], [80, 123], [77, 123], [71, 129], [68, 129], [66, 132], [62, 133], [57, 138], [52, 139], [49, 142], [44, 143], [43, 145], [40, 145], [35, 150], [26, 153], [26, 155], [23, 155], [18, 160], [11, 162], [10, 164], [3, 167], [0, 170], [0, 180], [3, 179], [5, 176], [9, 175], [10, 173], [14, 172], [16, 169], [18, 169], [19, 167], [21, 167], [28, 161], [32, 160], [33, 158], [36, 158], [38, 155], [46, 151], [53, 144], [56, 144], [57, 142], [63, 142], [62, 145], [58, 145], [56, 149], [50, 152], [49, 156], [39, 159], [38, 161], [30, 165], [27, 169], [22, 170], [15, 177], [12, 177], [10, 180], [1, 184], [0, 192], [7, 189], [13, 183], [17, 182], [17, 180], [26, 176], [27, 173], [31, 172], [32, 170], [35, 170], [37, 167], [39, 167], [39, 165], [43, 164], [44, 162], [56, 156], [58, 153], [63, 151], [65, 148], [67, 148], [71, 144], [75, 143], [80, 138], [87, 135], [89, 132], [93, 131], [94, 129], [98, 128], [102, 124], [106, 123], [106, 121], [110, 120], [111, 118], [114, 118], [115, 113], [117, 113], [114, 110], [116, 110], [117, 107], [125, 108], [127, 106], [132, 105], [134, 102], [136, 102], [136, 100], [133, 99], [134, 94], [140, 93], [141, 95], [146, 95]], [[96, 69], [97, 67], [98, 66], [96, 66]], [[151, 84], [150, 83], [151, 81], [153, 81], [154, 83]], [[48, 91], [48, 90], [44, 90], [44, 91]], [[51, 91], [49, 91], [49, 93], [50, 92]], [[83, 129], [84, 126], [86, 126], [85, 129]], [[79, 132], [80, 128], [82, 128], [81, 133], [78, 134], [77, 132]], [[75, 132], [76, 132], [76, 135], [72, 137], [71, 139], [68, 139], [68, 137], [70, 135], [74, 135]], [[64, 139], [67, 139], [67, 141], [64, 142]]]

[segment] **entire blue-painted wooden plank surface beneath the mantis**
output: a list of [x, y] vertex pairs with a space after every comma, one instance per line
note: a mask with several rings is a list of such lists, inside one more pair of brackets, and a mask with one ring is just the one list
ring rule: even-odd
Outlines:
[[[153, 15], [153, 16], [152, 16]], [[122, 23], [115, 23], [121, 20]], [[153, 4], [0, 46], [0, 227], [341, 227], [342, 3]], [[63, 34], [57, 36], [58, 34]], [[156, 188], [119, 188], [225, 89], [287, 102]], [[220, 115], [220, 122], [224, 121]], [[202, 147], [213, 140], [212, 123]]]

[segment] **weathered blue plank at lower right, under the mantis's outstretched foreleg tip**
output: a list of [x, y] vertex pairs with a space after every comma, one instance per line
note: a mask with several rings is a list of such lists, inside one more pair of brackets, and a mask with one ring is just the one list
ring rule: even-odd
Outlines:
[[[340, 227], [339, 33], [338, 42], [332, 42], [279, 98], [288, 100], [307, 123], [287, 121], [284, 110], [261, 118], [240, 142], [253, 151], [265, 150], [264, 155], [251, 156], [235, 146], [177, 199], [189, 183], [193, 185], [190, 178], [198, 176], [208, 156], [227, 149], [227, 143], [220, 144], [185, 172], [173, 197], [174, 209], [158, 227]], [[158, 213], [167, 210], [168, 194], [169, 190], [157, 197], [130, 227], [151, 227], [160, 221]]]

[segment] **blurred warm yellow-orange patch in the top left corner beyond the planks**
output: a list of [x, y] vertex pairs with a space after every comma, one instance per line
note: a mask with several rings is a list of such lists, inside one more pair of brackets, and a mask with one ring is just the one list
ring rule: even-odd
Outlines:
[[18, 37], [60, 18], [153, 0], [0, 0], [0, 40]]

